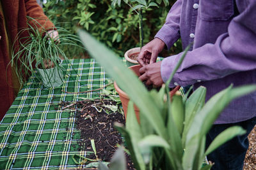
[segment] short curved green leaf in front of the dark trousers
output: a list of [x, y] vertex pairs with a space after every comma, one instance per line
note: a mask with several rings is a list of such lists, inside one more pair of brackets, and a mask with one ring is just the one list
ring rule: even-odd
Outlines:
[[237, 135], [245, 134], [246, 131], [239, 127], [233, 126], [229, 127], [225, 131], [221, 132], [211, 143], [211, 145], [207, 148], [205, 155], [208, 155], [212, 151], [214, 151], [219, 146], [223, 145], [225, 142], [229, 141], [230, 139], [234, 138]]

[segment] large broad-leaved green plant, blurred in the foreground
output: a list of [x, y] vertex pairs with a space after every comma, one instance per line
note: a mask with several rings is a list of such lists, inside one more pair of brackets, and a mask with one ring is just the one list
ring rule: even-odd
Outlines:
[[[234, 136], [244, 134], [241, 127], [230, 127], [205, 150], [205, 136], [221, 111], [233, 99], [256, 90], [255, 85], [236, 88], [230, 85], [206, 104], [205, 87], [196, 89], [186, 100], [177, 94], [171, 101], [167, 85], [163, 85], [159, 92], [148, 92], [115, 53], [84, 31], [79, 31], [79, 36], [92, 57], [105, 67], [131, 99], [125, 127], [116, 124], [116, 128], [125, 138], [136, 169], [211, 169], [212, 164], [202, 166], [205, 156]], [[166, 84], [172, 80], [186, 51]], [[133, 103], [140, 109], [140, 124]]]

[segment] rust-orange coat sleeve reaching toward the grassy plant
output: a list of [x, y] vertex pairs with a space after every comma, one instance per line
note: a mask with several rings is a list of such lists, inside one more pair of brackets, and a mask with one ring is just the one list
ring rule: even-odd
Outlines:
[[36, 0], [25, 0], [26, 13], [29, 17], [34, 18], [39, 24], [35, 24], [35, 21], [30, 21], [29, 24], [36, 25], [40, 29], [40, 26], [44, 29], [51, 30], [55, 29], [54, 24], [49, 20], [48, 17], [44, 14], [41, 6], [36, 3]]

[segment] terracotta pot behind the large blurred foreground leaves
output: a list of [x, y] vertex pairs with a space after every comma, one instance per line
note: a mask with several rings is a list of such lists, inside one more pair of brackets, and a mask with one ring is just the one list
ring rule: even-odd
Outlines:
[[[140, 76], [140, 65], [135, 65], [135, 66], [131, 66], [129, 67], [132, 71], [134, 71], [134, 73], [138, 76]], [[128, 108], [128, 103], [130, 101], [129, 97], [127, 96], [127, 94], [121, 90], [118, 85], [116, 84], [116, 81], [114, 82], [114, 87], [116, 89], [116, 92], [118, 92], [120, 100], [122, 102], [122, 106], [123, 106], [123, 110], [124, 110], [124, 116], [125, 116], [125, 120], [127, 117], [127, 108]], [[172, 98], [172, 96], [175, 94], [175, 92], [177, 92], [180, 89], [180, 86], [175, 87], [172, 91], [169, 92], [170, 97]], [[140, 123], [140, 110], [138, 109], [138, 107], [134, 104], [134, 111], [137, 117], [138, 122]]]

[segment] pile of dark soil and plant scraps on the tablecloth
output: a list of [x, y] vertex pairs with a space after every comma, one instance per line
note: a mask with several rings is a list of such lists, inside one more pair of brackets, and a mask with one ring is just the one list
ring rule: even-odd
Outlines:
[[[110, 99], [85, 100], [76, 103], [76, 128], [81, 131], [78, 150], [92, 152], [88, 159], [96, 159], [91, 139], [94, 139], [98, 159], [110, 162], [111, 157], [123, 145], [122, 138], [114, 127], [114, 122], [125, 124], [124, 115], [113, 112], [116, 102]], [[131, 158], [126, 155], [127, 169], [134, 169]]]

